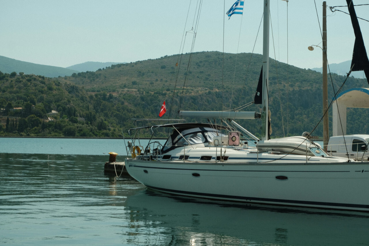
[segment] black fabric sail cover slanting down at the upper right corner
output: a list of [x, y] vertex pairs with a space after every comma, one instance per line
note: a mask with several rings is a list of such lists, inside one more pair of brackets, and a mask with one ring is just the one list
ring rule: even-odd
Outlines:
[[354, 3], [352, 0], [346, 0], [348, 11], [351, 17], [352, 27], [355, 33], [354, 52], [352, 53], [351, 67], [352, 71], [364, 70], [366, 80], [369, 84], [369, 60], [361, 34], [358, 18], [356, 17]]

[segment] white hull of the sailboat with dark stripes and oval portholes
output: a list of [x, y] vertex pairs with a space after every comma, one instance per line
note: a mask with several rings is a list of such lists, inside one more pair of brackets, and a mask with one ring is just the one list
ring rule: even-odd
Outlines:
[[369, 211], [366, 163], [188, 163], [127, 159], [153, 190], [217, 200]]

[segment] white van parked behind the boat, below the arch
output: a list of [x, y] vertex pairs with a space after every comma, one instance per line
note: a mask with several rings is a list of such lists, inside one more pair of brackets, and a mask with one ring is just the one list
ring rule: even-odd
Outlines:
[[368, 142], [369, 135], [366, 134], [332, 136], [327, 145], [327, 153], [354, 160], [361, 160], [364, 157], [363, 160], [367, 161], [369, 160]]

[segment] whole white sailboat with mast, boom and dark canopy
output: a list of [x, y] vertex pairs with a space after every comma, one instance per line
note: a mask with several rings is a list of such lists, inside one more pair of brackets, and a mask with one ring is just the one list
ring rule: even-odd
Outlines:
[[[369, 163], [330, 156], [301, 136], [269, 139], [269, 0], [263, 4], [262, 113], [181, 111], [183, 117], [226, 118], [230, 124], [142, 127], [153, 132], [173, 130], [163, 146], [157, 141], [150, 141], [145, 148], [130, 143], [132, 158], [125, 160], [128, 173], [150, 189], [176, 195], [369, 211]], [[259, 117], [262, 139], [234, 122]], [[241, 135], [247, 135], [256, 146], [242, 141]]]

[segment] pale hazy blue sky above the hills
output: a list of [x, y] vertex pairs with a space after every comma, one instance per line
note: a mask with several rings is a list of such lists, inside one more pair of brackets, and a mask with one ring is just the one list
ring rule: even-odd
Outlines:
[[[256, 40], [254, 52], [262, 53], [262, 31], [257, 39], [256, 34], [263, 1], [245, 0], [244, 14], [228, 20], [225, 12], [234, 2], [203, 0], [196, 27], [198, 0], [0, 0], [0, 55], [60, 67], [87, 61], [135, 62], [182, 52], [184, 31], [183, 52], [190, 52], [192, 27], [194, 51], [252, 52]], [[322, 25], [323, 1], [315, 0], [318, 15], [314, 0], [289, 0], [288, 8], [286, 1], [270, 2], [270, 57], [287, 63], [288, 9], [288, 63], [321, 67], [321, 49], [307, 47], [321, 42], [318, 17]], [[344, 6], [346, 1], [328, 0], [327, 5]], [[338, 9], [348, 12], [347, 7]], [[369, 6], [355, 9], [358, 17], [369, 19]], [[350, 60], [355, 39], [349, 15], [329, 9], [327, 15], [328, 63]], [[359, 23], [369, 51], [369, 22]]]

